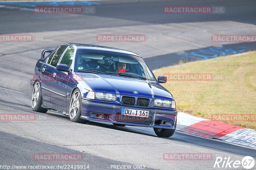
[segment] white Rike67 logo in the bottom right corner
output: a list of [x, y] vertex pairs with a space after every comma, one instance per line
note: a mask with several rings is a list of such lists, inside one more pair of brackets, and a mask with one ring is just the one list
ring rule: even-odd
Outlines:
[[251, 156], [245, 156], [242, 161], [240, 160], [231, 160], [230, 157], [228, 159], [225, 157], [222, 159], [221, 157], [217, 157], [214, 163], [214, 168], [241, 168], [241, 165], [245, 169], [251, 169], [254, 166], [254, 159]]

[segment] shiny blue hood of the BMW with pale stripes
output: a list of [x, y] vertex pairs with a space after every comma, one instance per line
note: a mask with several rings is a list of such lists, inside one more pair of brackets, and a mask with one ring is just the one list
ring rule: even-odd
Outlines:
[[[79, 73], [94, 91], [173, 100], [171, 93], [157, 82], [108, 74]], [[138, 92], [134, 94], [133, 91]]]

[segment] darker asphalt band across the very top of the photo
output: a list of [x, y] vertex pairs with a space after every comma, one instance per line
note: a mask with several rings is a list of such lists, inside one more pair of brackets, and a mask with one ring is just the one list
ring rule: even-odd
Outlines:
[[[113, 26], [131, 26], [141, 24], [169, 24], [187, 22], [235, 21], [248, 24], [256, 23], [256, 2], [253, 0], [214, 1], [95, 1], [95, 14], [88, 15], [51, 15], [31, 14], [30, 11], [6, 9], [0, 11], [1, 34], [44, 32], [104, 28]], [[6, 6], [23, 7], [15, 4]], [[42, 4], [47, 6], [47, 4]], [[65, 6], [65, 4], [62, 4]], [[86, 4], [85, 4], [86, 5]], [[224, 14], [164, 14], [164, 6], [224, 6]], [[26, 7], [33, 9], [33, 7]], [[15, 16], [15, 17], [13, 17]], [[58, 23], [58, 24], [56, 24]]]

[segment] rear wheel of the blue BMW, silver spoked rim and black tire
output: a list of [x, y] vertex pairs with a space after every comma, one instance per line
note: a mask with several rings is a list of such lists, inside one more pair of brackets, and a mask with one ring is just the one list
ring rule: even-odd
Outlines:
[[33, 86], [31, 95], [31, 108], [33, 111], [40, 113], [46, 113], [48, 111], [48, 109], [42, 107], [41, 88], [38, 81], [36, 81]]

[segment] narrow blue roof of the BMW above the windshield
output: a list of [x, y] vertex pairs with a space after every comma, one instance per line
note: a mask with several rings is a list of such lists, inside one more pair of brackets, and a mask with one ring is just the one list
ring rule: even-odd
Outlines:
[[91, 44], [77, 44], [77, 43], [65, 43], [62, 45], [76, 46], [78, 49], [111, 51], [111, 52], [131, 54], [131, 55], [136, 55], [138, 57], [141, 57], [139, 54], [134, 53], [132, 51], [122, 50], [122, 49], [118, 49], [118, 48], [112, 48], [112, 47], [108, 47], [108, 46], [97, 46], [97, 45], [91, 45]]

